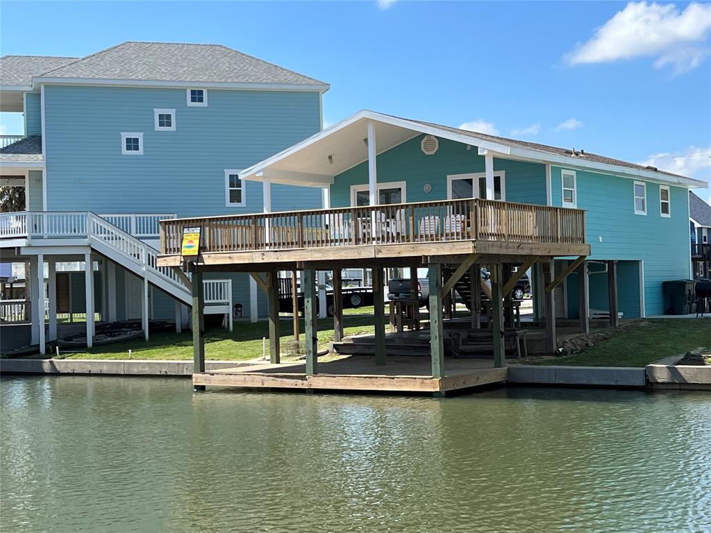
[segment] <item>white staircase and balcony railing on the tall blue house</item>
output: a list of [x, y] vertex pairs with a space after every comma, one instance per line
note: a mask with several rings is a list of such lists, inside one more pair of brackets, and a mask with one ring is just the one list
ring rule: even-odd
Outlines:
[[[3, 240], [9, 242], [9, 239], [26, 239], [26, 244], [31, 246], [88, 244], [149, 284], [191, 305], [191, 291], [178, 274], [172, 269], [156, 266], [158, 250], [93, 212], [2, 213], [0, 244]], [[77, 240], [81, 242], [77, 243]]]

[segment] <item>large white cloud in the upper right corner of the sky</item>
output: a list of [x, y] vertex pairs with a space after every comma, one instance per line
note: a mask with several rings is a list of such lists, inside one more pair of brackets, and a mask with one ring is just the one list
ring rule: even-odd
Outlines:
[[586, 43], [565, 56], [570, 65], [608, 63], [621, 59], [656, 58], [654, 66], [670, 65], [675, 73], [687, 72], [709, 54], [711, 4], [630, 2], [597, 28]]

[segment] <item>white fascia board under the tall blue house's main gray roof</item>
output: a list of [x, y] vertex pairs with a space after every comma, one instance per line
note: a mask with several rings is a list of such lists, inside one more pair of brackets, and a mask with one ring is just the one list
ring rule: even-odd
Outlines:
[[109, 85], [116, 87], [193, 87], [198, 89], [242, 89], [264, 91], [318, 91], [326, 92], [331, 88], [328, 84], [298, 84], [298, 83], [237, 83], [237, 82], [181, 82], [161, 80], [109, 80], [82, 77], [34, 77], [33, 87], [43, 83], [53, 85]]

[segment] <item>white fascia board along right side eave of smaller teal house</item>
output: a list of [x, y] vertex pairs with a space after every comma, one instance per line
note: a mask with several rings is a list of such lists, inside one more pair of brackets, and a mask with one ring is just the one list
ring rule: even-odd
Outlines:
[[707, 188], [708, 184], [705, 181], [695, 180], [693, 178], [683, 178], [675, 176], [667, 176], [654, 171], [636, 170], [625, 166], [611, 165], [609, 163], [599, 163], [597, 161], [585, 161], [579, 157], [558, 156], [548, 152], [540, 152], [535, 150], [526, 150], [519, 148], [511, 148], [510, 156], [517, 156], [524, 160], [534, 160], [540, 163], [552, 163], [555, 166], [565, 166], [580, 168], [582, 170], [590, 169], [598, 173], [612, 174], [614, 176], [623, 176], [625, 178], [645, 178], [648, 181], [656, 183], [664, 183], [671, 185], [682, 185], [690, 188]]

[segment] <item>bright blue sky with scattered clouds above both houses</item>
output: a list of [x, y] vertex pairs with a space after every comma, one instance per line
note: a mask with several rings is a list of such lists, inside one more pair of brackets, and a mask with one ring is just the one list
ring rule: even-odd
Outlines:
[[[2, 55], [220, 43], [331, 83], [326, 125], [374, 109], [711, 178], [711, 4], [3, 1], [0, 10]], [[21, 133], [14, 117], [1, 126]]]

